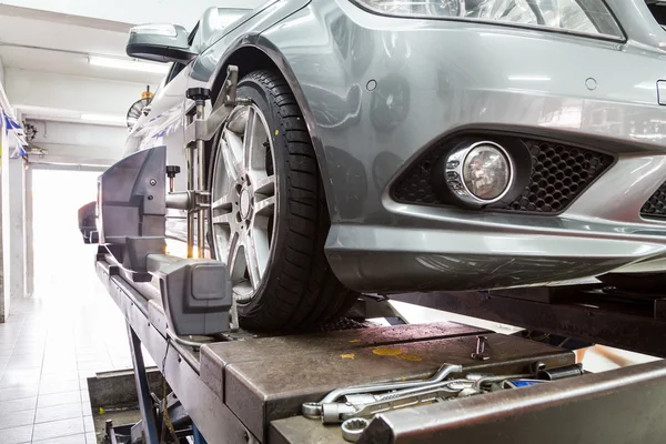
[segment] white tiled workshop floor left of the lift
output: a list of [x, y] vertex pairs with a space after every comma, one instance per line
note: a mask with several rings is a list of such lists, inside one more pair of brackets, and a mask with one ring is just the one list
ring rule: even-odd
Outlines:
[[59, 281], [12, 300], [0, 324], [0, 444], [97, 444], [87, 377], [131, 367], [131, 356], [94, 273], [83, 289]]

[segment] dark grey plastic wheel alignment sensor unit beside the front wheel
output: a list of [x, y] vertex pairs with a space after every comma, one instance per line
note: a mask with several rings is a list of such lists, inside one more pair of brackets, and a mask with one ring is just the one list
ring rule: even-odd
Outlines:
[[232, 290], [226, 264], [165, 251], [167, 149], [139, 151], [99, 179], [100, 243], [133, 282], [160, 280], [170, 327], [178, 335], [230, 330]]

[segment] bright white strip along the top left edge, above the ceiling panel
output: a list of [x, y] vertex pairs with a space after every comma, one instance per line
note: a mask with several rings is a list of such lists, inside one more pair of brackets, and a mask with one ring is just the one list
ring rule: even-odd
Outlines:
[[0, 4], [124, 23], [167, 22], [191, 29], [209, 7], [253, 8], [265, 0], [4, 0]]

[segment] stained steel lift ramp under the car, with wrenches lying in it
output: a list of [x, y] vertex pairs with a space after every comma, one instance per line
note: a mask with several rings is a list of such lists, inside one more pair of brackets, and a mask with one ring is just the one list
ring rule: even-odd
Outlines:
[[[210, 444], [344, 443], [339, 424], [301, 416], [301, 405], [339, 387], [426, 379], [443, 363], [498, 375], [575, 363], [564, 349], [451, 322], [239, 332], [196, 347], [170, 332], [152, 283], [132, 282], [110, 255], [99, 254], [95, 268], [127, 319], [148, 444], [159, 438], [141, 344], [191, 417], [195, 442]], [[478, 335], [486, 360], [472, 356]], [[656, 443], [665, 414], [666, 364], [657, 361], [380, 413], [357, 442]]]

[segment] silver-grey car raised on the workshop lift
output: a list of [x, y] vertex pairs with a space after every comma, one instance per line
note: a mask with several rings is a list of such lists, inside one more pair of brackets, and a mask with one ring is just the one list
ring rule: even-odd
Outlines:
[[214, 99], [239, 67], [252, 104], [208, 147], [209, 240], [250, 327], [320, 323], [357, 292], [662, 272], [665, 12], [270, 0], [211, 8], [189, 34], [139, 27], [152, 43], [128, 53], [173, 65], [127, 153], [164, 144], [184, 169], [185, 91]]

